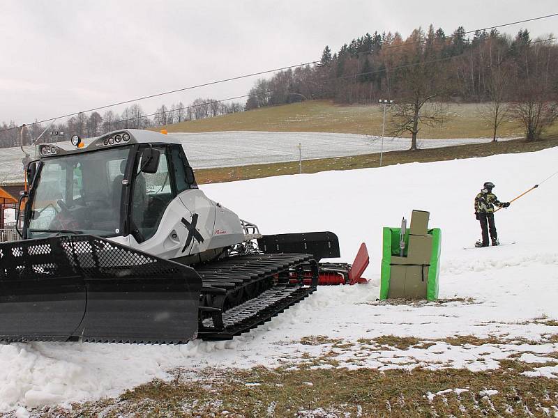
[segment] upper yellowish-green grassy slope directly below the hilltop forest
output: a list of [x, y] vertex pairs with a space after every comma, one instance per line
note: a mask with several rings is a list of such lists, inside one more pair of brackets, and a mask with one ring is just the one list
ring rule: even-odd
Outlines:
[[[165, 126], [168, 132], [217, 132], [257, 130], [278, 132], [344, 132], [382, 134], [382, 109], [379, 105], [341, 106], [326, 100], [310, 100], [282, 106], [217, 116], [199, 121], [186, 121]], [[422, 138], [491, 137], [488, 123], [481, 119], [478, 104], [450, 104], [448, 121], [441, 127], [424, 127]], [[160, 129], [160, 128], [157, 128]], [[386, 121], [386, 132], [388, 121]], [[558, 124], [551, 133], [558, 134]], [[499, 131], [502, 137], [521, 137], [522, 128], [506, 123]]]

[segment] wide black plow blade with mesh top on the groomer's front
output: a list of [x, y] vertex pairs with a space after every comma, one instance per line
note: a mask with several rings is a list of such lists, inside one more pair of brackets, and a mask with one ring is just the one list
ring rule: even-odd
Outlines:
[[0, 244], [0, 340], [183, 343], [197, 336], [193, 268], [92, 235]]

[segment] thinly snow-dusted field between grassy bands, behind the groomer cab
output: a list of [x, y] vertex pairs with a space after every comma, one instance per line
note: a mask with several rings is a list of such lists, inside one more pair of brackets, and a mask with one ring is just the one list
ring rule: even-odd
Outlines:
[[[299, 160], [299, 144], [303, 160], [379, 153], [382, 138], [359, 134], [322, 132], [203, 132], [172, 133], [183, 144], [192, 167], [232, 167], [246, 164]], [[419, 148], [478, 144], [487, 138], [419, 139]], [[86, 141], [86, 144], [88, 142]], [[68, 144], [66, 142], [64, 144]], [[384, 138], [384, 151], [405, 150], [411, 145], [407, 138]], [[33, 147], [27, 153], [35, 155]], [[19, 147], [0, 148], [0, 184], [23, 181], [23, 153]]]

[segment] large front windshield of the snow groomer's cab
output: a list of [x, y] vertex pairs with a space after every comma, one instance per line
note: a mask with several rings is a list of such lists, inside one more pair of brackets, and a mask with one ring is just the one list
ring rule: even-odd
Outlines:
[[123, 173], [130, 147], [43, 160], [27, 238], [58, 232], [118, 235]]

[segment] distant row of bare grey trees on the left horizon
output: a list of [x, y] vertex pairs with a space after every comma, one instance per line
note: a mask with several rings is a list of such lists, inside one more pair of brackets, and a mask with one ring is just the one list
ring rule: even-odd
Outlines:
[[[182, 102], [167, 107], [161, 105], [153, 115], [146, 115], [140, 104], [126, 107], [122, 113], [112, 110], [103, 115], [97, 111], [91, 114], [80, 113], [68, 118], [62, 123], [33, 123], [24, 130], [24, 145], [31, 145], [40, 137], [41, 142], [66, 141], [77, 134], [80, 137], [96, 137], [118, 129], [146, 129], [211, 118], [224, 114], [236, 113], [244, 110], [244, 104], [239, 102], [225, 103], [214, 99], [197, 98], [188, 106]], [[20, 129], [14, 121], [0, 125], [0, 148], [20, 145]], [[42, 134], [42, 136], [40, 136]]]

